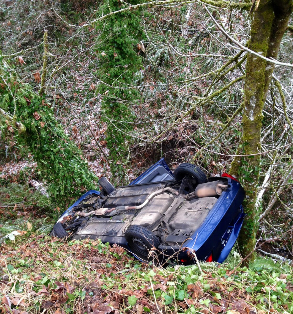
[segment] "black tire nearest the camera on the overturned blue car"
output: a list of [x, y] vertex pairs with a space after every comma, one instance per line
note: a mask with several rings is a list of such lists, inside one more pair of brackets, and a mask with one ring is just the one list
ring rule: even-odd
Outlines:
[[[139, 225], [130, 226], [124, 236], [131, 252], [144, 261], [148, 260], [149, 251], [153, 247], [157, 249], [160, 245], [160, 240], [157, 236]], [[149, 260], [152, 260], [152, 257]]]

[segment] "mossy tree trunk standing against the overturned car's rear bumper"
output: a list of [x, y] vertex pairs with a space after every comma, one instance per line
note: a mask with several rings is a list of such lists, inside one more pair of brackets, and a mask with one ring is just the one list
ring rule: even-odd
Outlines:
[[[292, 0], [260, 0], [258, 7], [253, 8], [252, 11], [251, 38], [248, 47], [263, 56], [275, 59], [292, 9]], [[247, 57], [242, 117], [243, 132], [238, 154], [261, 152], [262, 111], [273, 70], [273, 63], [252, 54]], [[255, 203], [260, 165], [260, 155], [235, 157], [230, 169], [230, 174], [241, 178], [247, 196], [245, 203], [247, 216], [238, 238], [243, 257], [253, 251], [256, 241], [259, 213]], [[254, 257], [252, 253], [248, 260], [252, 260]]]

